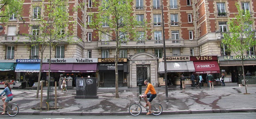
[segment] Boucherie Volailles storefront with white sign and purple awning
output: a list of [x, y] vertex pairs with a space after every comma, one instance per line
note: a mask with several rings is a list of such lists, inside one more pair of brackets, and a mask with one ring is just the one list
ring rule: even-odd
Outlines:
[[[67, 85], [74, 87], [76, 77], [97, 77], [97, 63], [98, 58], [53, 58], [50, 64], [50, 79], [59, 83], [66, 77], [67, 82], [72, 82]], [[45, 79], [48, 80], [49, 59], [43, 60], [42, 72], [46, 73]]]

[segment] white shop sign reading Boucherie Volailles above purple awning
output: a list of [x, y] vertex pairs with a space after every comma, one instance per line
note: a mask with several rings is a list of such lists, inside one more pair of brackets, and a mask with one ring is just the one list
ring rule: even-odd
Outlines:
[[[44, 59], [43, 63], [49, 63], [50, 59]], [[98, 58], [52, 58], [51, 63], [98, 63]]]

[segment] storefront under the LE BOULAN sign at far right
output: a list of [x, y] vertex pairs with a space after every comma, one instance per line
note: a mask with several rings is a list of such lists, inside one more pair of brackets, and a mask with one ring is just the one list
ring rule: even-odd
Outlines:
[[[238, 78], [243, 75], [241, 56], [219, 56], [219, 66], [221, 73], [226, 75], [224, 81], [238, 82]], [[245, 73], [249, 71], [252, 76], [256, 76], [256, 56], [244, 56]]]

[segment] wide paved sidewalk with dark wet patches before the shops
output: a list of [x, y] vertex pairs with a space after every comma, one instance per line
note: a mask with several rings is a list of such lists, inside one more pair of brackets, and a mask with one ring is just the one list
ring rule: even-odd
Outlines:
[[[144, 92], [146, 87], [142, 87]], [[157, 97], [154, 102], [162, 103], [162, 114], [194, 114], [194, 113], [223, 113], [223, 112], [256, 112], [256, 87], [239, 87], [236, 83], [226, 83], [226, 86], [186, 89], [168, 88], [166, 97], [165, 88], [155, 87]], [[3, 89], [0, 89], [3, 91]], [[99, 88], [98, 99], [75, 99], [76, 90], [68, 92], [57, 90], [58, 110], [39, 111], [31, 108], [40, 107], [41, 91], [36, 99], [36, 90], [13, 89], [14, 100], [19, 104], [19, 115], [130, 115], [128, 108], [139, 95], [139, 88], [119, 88], [119, 99], [115, 98], [114, 88]], [[43, 107], [47, 95], [47, 87], [43, 88]], [[1, 103], [2, 104], [2, 103]], [[146, 114], [146, 109], [143, 108]]]

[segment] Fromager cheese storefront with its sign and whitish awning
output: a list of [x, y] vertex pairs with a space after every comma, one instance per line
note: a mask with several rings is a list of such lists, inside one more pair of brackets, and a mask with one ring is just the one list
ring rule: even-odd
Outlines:
[[[159, 59], [158, 64], [158, 86], [165, 86], [164, 78], [164, 59]], [[186, 84], [190, 85], [192, 82], [189, 79], [190, 72], [195, 72], [195, 67], [189, 56], [167, 56], [166, 57], [166, 70], [168, 85], [180, 85], [180, 76], [184, 75]]]

